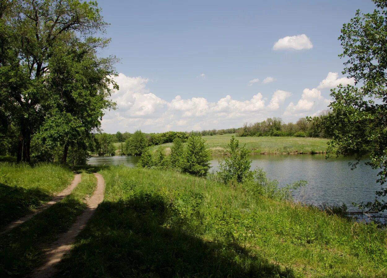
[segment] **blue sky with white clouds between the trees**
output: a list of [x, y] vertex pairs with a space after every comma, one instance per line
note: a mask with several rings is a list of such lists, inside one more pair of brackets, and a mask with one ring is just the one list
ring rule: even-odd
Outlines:
[[370, 0], [99, 0], [99, 55], [115, 55], [120, 89], [101, 126], [116, 133], [241, 127], [319, 115], [341, 74], [342, 24]]

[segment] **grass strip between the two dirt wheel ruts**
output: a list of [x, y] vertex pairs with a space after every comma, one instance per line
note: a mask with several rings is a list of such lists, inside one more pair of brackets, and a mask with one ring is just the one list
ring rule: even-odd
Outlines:
[[64, 233], [86, 208], [96, 178], [82, 173], [81, 182], [70, 195], [42, 213], [0, 236], [0, 277], [25, 277], [41, 263], [43, 250]]

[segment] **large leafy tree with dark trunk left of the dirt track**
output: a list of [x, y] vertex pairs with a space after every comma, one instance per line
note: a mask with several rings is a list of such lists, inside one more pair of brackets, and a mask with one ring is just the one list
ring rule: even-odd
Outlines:
[[[106, 96], [109, 85], [116, 86], [114, 59], [96, 58], [96, 50], [108, 43], [95, 37], [106, 26], [99, 12], [93, 1], [0, 0], [0, 90], [7, 103], [0, 114], [12, 115], [19, 127], [18, 161], [30, 160], [31, 137], [44, 124], [50, 124], [46, 130], [65, 134], [56, 138], [66, 148], [75, 137], [98, 128], [102, 110], [112, 106]], [[102, 104], [96, 104], [98, 98]]]

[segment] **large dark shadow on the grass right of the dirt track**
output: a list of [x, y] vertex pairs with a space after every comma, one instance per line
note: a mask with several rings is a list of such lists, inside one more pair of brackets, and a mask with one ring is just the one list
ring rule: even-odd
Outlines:
[[294, 277], [238, 244], [200, 239], [175, 216], [158, 194], [104, 201], [56, 277]]

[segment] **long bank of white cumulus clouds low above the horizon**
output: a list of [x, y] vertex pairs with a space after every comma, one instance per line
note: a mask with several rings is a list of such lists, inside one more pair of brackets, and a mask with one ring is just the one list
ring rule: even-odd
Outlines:
[[[136, 129], [164, 132], [240, 127], [243, 122], [257, 122], [267, 117], [280, 116], [279, 112], [274, 112], [291, 96], [287, 91], [277, 90], [272, 96], [264, 97], [257, 93], [248, 100], [238, 100], [231, 95], [215, 101], [178, 95], [167, 101], [147, 88], [147, 83], [150, 82], [147, 78], [119, 74], [116, 82], [120, 89], [112, 94], [111, 100], [117, 102], [118, 109], [107, 112], [101, 122], [102, 129], [110, 133], [117, 130], [134, 132]], [[286, 108], [289, 115], [286, 120], [300, 113], [310, 115], [317, 109], [326, 108], [315, 106], [314, 101], [321, 105], [330, 102], [321, 96], [319, 90], [305, 89], [301, 100], [290, 103]]]

